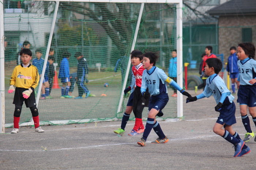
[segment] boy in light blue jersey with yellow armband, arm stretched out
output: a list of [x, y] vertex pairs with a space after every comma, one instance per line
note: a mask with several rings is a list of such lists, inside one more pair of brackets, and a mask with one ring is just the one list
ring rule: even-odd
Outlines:
[[[159, 137], [152, 143], [166, 143], [169, 141], [169, 139], [163, 133], [160, 124], [155, 119], [156, 116], [160, 117], [163, 115], [162, 109], [166, 106], [169, 100], [166, 83], [172, 85], [183, 95], [188, 97], [191, 96], [188, 92], [184, 91], [176, 82], [170, 79], [162, 69], [155, 67], [155, 63], [157, 62], [158, 58], [159, 56], [152, 52], [146, 52], [145, 54], [143, 54], [142, 63], [145, 70], [142, 74], [142, 86], [140, 88], [140, 92], [146, 100], [148, 98], [150, 98], [150, 100], [145, 130], [142, 138], [137, 142], [140, 146], [146, 146], [146, 140], [152, 128]], [[146, 91], [147, 88], [148, 91]]]

